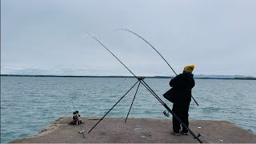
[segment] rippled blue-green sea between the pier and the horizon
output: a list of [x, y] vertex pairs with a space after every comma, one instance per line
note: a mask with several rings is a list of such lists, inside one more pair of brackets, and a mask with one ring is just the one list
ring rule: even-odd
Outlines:
[[[168, 106], [162, 94], [169, 90], [167, 78], [145, 82]], [[135, 78], [1, 77], [1, 143], [38, 134], [50, 122], [71, 116], [102, 117], [126, 94]], [[256, 133], [256, 81], [195, 79], [190, 119], [226, 120]], [[134, 87], [107, 117], [126, 118], [134, 98]], [[144, 86], [140, 86], [130, 118], [167, 118], [165, 108]], [[171, 125], [171, 124], [170, 124]]]

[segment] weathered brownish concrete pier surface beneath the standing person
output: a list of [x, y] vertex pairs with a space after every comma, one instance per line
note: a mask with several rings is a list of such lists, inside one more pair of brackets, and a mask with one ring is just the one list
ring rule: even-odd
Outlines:
[[[189, 135], [173, 135], [170, 119], [104, 118], [88, 131], [99, 118], [82, 118], [82, 125], [70, 125], [71, 118], [59, 118], [38, 135], [11, 143], [198, 143]], [[85, 130], [85, 137], [78, 132]], [[190, 130], [203, 143], [256, 143], [256, 135], [226, 121], [190, 121]]]

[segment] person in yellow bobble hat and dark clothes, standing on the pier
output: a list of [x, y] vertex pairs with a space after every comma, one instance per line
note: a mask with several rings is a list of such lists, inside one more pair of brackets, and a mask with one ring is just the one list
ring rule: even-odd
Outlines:
[[[194, 65], [185, 66], [183, 73], [178, 74], [175, 78], [170, 80], [170, 87], [172, 87], [173, 95], [173, 112], [182, 120], [182, 122], [189, 126], [189, 107], [192, 96], [192, 88], [194, 87]], [[173, 132], [174, 135], [184, 134], [188, 135], [188, 130], [182, 126], [177, 118], [173, 117]]]

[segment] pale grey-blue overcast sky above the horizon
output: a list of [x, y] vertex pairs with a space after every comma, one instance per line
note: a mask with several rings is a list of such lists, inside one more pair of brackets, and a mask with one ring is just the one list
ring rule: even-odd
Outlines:
[[1, 0], [1, 74], [256, 77], [255, 0]]

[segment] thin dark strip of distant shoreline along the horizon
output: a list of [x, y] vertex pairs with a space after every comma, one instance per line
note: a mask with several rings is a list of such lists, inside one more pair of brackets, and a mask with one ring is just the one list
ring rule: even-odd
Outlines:
[[[134, 76], [74, 76], [74, 75], [29, 75], [29, 74], [1, 74], [5, 77], [64, 77], [64, 78], [134, 78]], [[173, 76], [138, 76], [139, 78], [174, 78]], [[244, 78], [197, 78], [195, 79], [238, 79], [238, 80], [256, 80], [256, 78], [244, 77]]]

